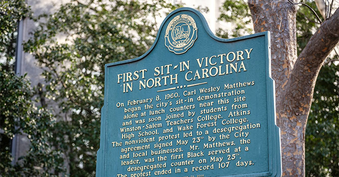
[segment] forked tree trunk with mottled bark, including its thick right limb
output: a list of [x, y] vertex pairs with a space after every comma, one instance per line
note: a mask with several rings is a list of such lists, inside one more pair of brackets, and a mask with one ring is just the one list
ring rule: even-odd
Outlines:
[[339, 10], [297, 56], [294, 1], [248, 0], [256, 32], [271, 32], [282, 176], [305, 176], [305, 129], [319, 70], [339, 40]]

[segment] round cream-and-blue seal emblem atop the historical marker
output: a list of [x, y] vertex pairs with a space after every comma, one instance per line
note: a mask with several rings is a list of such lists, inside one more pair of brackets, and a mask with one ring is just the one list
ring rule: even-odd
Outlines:
[[183, 54], [193, 46], [197, 38], [197, 26], [194, 19], [181, 14], [168, 23], [165, 32], [165, 46], [175, 54]]

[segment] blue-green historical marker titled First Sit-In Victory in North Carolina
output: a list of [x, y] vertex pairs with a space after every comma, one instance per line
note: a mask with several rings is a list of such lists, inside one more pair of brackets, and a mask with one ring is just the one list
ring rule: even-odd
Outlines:
[[280, 176], [269, 37], [218, 38], [182, 8], [107, 64], [97, 176]]

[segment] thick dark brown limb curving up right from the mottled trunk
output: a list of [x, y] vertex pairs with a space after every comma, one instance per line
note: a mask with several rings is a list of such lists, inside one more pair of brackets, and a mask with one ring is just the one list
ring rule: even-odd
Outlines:
[[[305, 114], [305, 120], [311, 107], [315, 82], [321, 66], [328, 54], [339, 41], [339, 9], [333, 16], [324, 21], [319, 29], [313, 34], [306, 47], [299, 55], [290, 74], [285, 90], [283, 107], [295, 115]], [[306, 104], [309, 103], [309, 104]], [[299, 110], [289, 110], [289, 105], [299, 107]]]

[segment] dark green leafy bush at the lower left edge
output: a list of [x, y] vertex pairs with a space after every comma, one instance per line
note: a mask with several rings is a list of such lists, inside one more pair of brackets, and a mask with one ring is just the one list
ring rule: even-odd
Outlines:
[[4, 131], [0, 142], [25, 134], [31, 145], [28, 154], [12, 165], [10, 147], [0, 144], [0, 176], [53, 176], [48, 171], [62, 171], [59, 165], [63, 160], [59, 150], [50, 148], [56, 121], [48, 110], [35, 107], [25, 76], [16, 76], [3, 66], [0, 64], [0, 125]]

